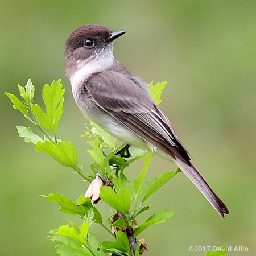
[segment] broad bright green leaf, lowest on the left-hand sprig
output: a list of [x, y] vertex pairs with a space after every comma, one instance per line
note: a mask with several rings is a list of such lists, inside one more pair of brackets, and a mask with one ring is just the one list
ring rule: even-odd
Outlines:
[[49, 141], [38, 141], [36, 151], [42, 151], [52, 156], [57, 162], [67, 167], [75, 167], [77, 163], [77, 154], [75, 147], [69, 141], [57, 142], [53, 144]]

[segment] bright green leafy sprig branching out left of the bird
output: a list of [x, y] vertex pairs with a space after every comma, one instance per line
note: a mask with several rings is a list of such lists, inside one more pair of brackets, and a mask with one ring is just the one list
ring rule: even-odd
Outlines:
[[77, 166], [77, 152], [73, 144], [69, 141], [57, 139], [56, 136], [57, 126], [63, 113], [65, 93], [61, 79], [52, 81], [51, 85], [44, 85], [42, 96], [45, 111], [34, 103], [35, 86], [31, 79], [24, 87], [18, 84], [18, 90], [22, 100], [14, 94], [5, 94], [13, 103], [13, 108], [18, 109], [43, 135], [35, 134], [31, 127], [17, 126], [19, 136], [24, 138], [25, 142], [34, 144], [36, 151], [48, 154], [63, 166], [72, 167], [84, 179], [91, 181], [90, 177], [83, 174], [80, 167]]

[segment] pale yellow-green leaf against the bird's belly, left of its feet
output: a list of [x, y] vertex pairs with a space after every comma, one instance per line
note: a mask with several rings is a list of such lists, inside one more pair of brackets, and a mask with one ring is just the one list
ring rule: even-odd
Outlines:
[[117, 139], [110, 135], [107, 131], [102, 129], [93, 121], [90, 121], [90, 125], [92, 125], [92, 129], [90, 130], [92, 134], [95, 136], [96, 134], [100, 136], [103, 141], [100, 144], [101, 148], [110, 148], [114, 150], [117, 147]]

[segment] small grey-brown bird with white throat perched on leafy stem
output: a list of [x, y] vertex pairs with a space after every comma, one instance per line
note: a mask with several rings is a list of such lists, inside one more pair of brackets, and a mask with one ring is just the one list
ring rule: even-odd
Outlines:
[[126, 31], [98, 24], [77, 28], [65, 44], [65, 74], [82, 113], [114, 137], [172, 160], [224, 218], [228, 208], [218, 198], [181, 144], [147, 86], [114, 59], [114, 41]]

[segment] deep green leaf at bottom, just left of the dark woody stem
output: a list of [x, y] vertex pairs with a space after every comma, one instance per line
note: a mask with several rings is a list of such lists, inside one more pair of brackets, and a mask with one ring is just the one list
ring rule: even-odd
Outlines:
[[109, 251], [115, 252], [116, 250], [127, 253], [130, 251], [130, 243], [125, 233], [118, 231], [116, 240], [114, 242], [104, 241], [101, 243], [102, 250], [105, 253]]

